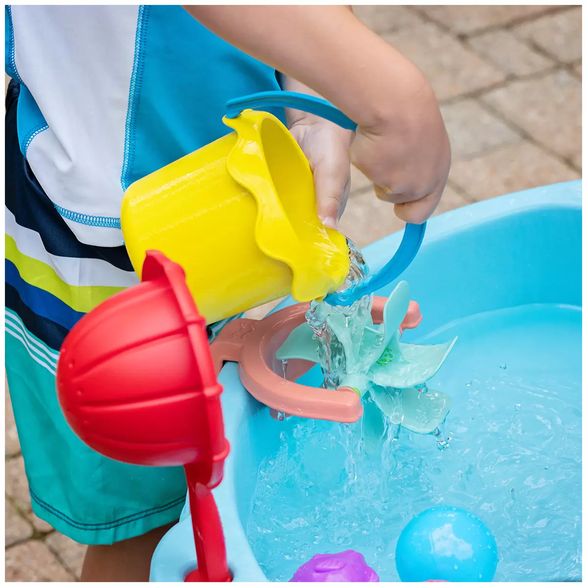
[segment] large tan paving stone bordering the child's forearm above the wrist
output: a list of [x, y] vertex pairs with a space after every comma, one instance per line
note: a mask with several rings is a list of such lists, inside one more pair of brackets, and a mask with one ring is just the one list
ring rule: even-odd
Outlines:
[[382, 38], [420, 69], [438, 100], [480, 90], [505, 79], [495, 66], [431, 23], [387, 33]]

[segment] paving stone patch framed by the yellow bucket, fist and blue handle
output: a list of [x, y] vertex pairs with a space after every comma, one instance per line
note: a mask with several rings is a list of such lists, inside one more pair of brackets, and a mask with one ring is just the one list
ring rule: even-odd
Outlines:
[[362, 248], [404, 225], [393, 213], [393, 204], [378, 200], [375, 191], [369, 190], [349, 198], [339, 229]]

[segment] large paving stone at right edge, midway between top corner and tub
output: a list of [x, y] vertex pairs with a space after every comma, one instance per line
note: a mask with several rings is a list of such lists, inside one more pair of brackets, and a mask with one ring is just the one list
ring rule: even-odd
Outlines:
[[581, 82], [565, 70], [511, 82], [481, 100], [563, 157], [581, 150]]

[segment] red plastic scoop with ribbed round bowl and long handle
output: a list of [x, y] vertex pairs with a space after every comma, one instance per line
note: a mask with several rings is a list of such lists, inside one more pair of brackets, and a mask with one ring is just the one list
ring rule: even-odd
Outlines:
[[212, 497], [228, 441], [206, 325], [180, 265], [147, 252], [143, 281], [72, 328], [57, 366], [65, 418], [88, 446], [136, 465], [183, 465], [198, 569], [185, 581], [228, 582]]

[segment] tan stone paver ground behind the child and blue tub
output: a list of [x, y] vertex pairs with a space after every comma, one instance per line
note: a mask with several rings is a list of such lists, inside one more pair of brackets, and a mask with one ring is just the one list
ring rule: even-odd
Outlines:
[[[580, 6], [355, 6], [440, 100], [453, 166], [437, 214], [581, 177]], [[340, 229], [360, 246], [402, 228], [353, 170]], [[263, 316], [272, 306], [249, 312]], [[76, 581], [85, 547], [31, 511], [6, 396], [6, 581]]]

